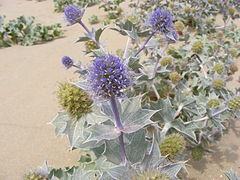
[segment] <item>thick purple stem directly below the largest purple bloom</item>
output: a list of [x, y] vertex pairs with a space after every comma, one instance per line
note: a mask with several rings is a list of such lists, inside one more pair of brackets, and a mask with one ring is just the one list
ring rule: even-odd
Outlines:
[[[111, 102], [112, 112], [113, 112], [115, 122], [116, 122], [115, 126], [117, 129], [122, 130], [123, 125], [122, 125], [121, 118], [120, 118], [120, 115], [118, 112], [115, 96], [111, 96], [110, 102]], [[126, 162], [127, 157], [126, 157], [126, 151], [125, 151], [125, 146], [124, 146], [124, 141], [123, 141], [123, 132], [121, 132], [121, 135], [118, 137], [118, 139], [119, 139], [119, 145], [120, 145], [119, 151], [120, 151], [121, 160], [122, 160], [122, 162]]]

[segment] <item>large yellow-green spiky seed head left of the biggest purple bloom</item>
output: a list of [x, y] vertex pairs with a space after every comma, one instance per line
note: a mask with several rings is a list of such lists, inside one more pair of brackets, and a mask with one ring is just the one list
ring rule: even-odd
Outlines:
[[61, 107], [73, 118], [79, 119], [91, 112], [92, 100], [88, 93], [68, 82], [58, 87], [57, 98]]

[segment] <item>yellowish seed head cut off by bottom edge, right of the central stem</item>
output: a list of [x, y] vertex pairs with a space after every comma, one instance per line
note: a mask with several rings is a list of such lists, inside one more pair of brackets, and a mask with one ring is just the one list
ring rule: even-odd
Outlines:
[[159, 170], [147, 170], [131, 178], [131, 180], [170, 180], [170, 178]]

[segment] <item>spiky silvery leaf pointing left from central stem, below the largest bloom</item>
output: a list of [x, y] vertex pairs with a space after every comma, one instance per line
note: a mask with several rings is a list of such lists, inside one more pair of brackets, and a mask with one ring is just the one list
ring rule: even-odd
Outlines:
[[112, 140], [120, 136], [121, 132], [112, 125], [96, 124], [86, 129], [90, 135], [84, 141], [86, 142], [100, 142], [102, 140]]

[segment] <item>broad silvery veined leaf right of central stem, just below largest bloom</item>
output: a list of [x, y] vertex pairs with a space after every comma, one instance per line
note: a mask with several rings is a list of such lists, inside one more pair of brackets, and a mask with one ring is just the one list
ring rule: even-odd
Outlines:
[[121, 107], [121, 119], [124, 127], [122, 131], [127, 134], [136, 132], [145, 126], [152, 124], [153, 122], [150, 118], [157, 112], [155, 110], [142, 109], [141, 96], [123, 101]]

